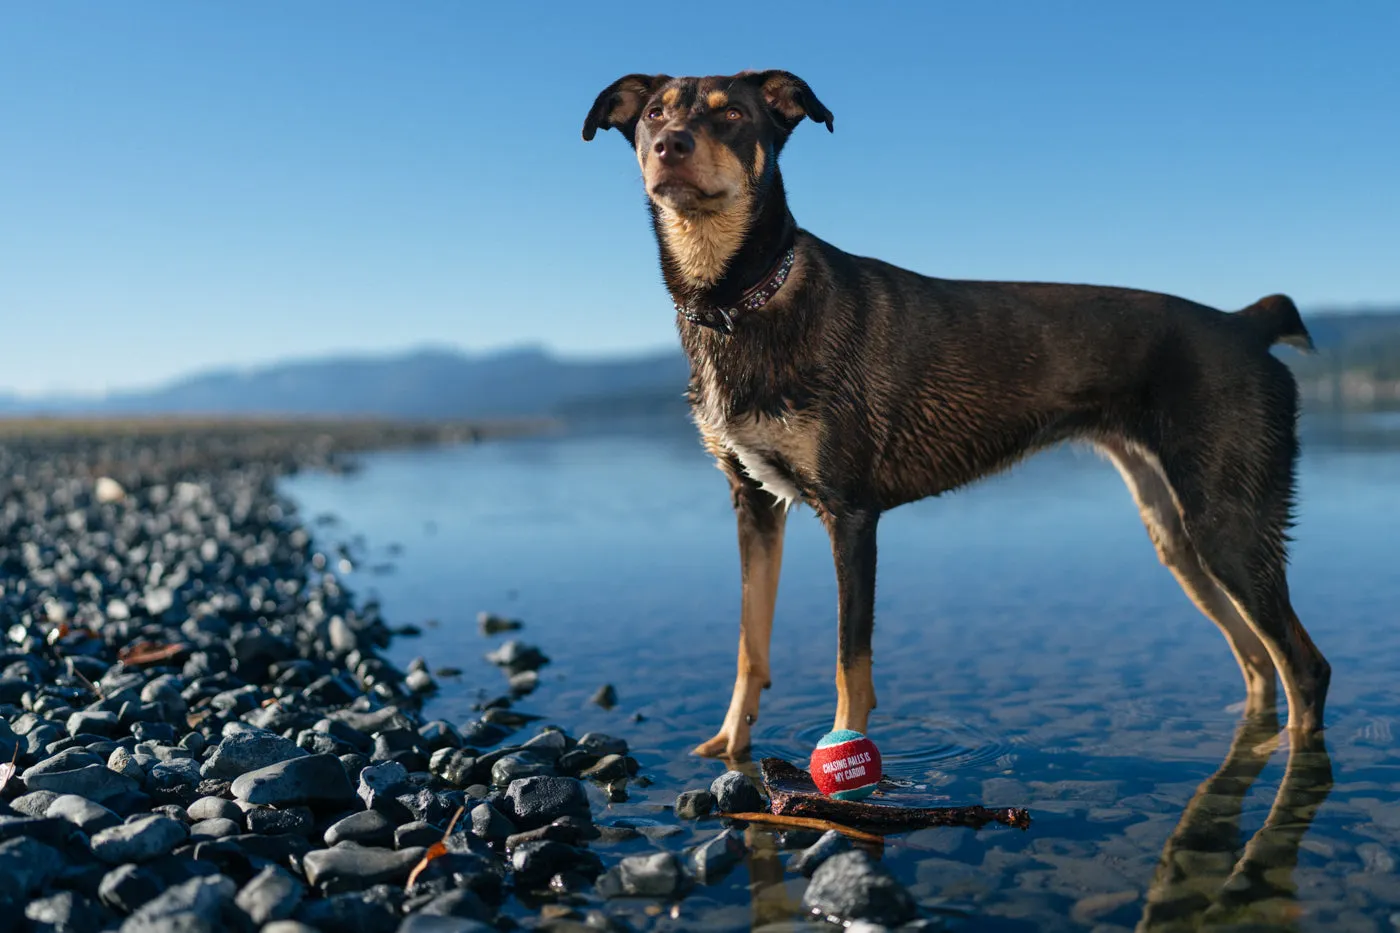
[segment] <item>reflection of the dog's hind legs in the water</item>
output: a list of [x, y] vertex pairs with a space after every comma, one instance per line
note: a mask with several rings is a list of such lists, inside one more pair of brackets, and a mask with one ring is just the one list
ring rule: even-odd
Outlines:
[[1298, 846], [1331, 792], [1331, 758], [1320, 733], [1291, 733], [1288, 765], [1268, 817], [1243, 842], [1245, 794], [1278, 740], [1273, 716], [1246, 719], [1235, 730], [1225, 761], [1196, 789], [1162, 848], [1138, 930], [1289, 929], [1301, 918], [1294, 883]]

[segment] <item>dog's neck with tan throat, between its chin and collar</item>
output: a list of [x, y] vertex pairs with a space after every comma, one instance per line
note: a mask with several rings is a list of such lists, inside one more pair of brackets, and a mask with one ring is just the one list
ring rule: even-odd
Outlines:
[[651, 202], [651, 223], [666, 289], [687, 307], [738, 304], [778, 268], [797, 233], [776, 171], [727, 212], [683, 216]]

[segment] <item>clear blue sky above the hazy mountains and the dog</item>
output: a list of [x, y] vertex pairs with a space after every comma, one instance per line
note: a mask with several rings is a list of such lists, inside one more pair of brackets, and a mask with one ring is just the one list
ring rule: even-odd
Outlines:
[[1400, 303], [1400, 3], [0, 4], [0, 391], [675, 345], [629, 71], [783, 67], [798, 221], [948, 277]]

